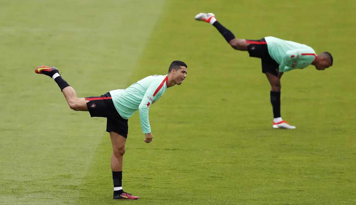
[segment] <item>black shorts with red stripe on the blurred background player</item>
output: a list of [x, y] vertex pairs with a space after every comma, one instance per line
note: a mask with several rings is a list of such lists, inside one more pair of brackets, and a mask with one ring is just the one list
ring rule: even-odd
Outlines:
[[246, 42], [250, 43], [247, 47], [250, 57], [261, 58], [262, 72], [269, 72], [274, 76], [278, 76], [279, 64], [269, 55], [265, 38], [260, 40], [246, 40]]

